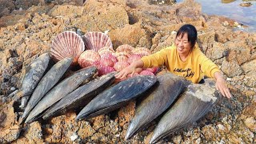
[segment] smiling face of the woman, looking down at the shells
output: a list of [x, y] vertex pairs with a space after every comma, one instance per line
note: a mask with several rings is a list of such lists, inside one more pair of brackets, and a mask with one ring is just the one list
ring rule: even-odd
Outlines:
[[192, 49], [186, 33], [183, 34], [183, 37], [182, 34], [178, 35], [175, 39], [175, 46], [178, 50], [178, 54], [189, 54]]

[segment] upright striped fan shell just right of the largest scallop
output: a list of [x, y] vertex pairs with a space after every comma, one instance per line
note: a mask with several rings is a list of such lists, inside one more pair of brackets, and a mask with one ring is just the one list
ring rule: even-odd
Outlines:
[[83, 37], [87, 50], [98, 50], [105, 46], [113, 49], [113, 44], [110, 37], [102, 32], [87, 32]]

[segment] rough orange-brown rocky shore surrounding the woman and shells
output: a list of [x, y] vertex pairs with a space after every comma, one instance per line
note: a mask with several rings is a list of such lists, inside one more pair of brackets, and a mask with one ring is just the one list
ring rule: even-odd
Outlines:
[[160, 143], [256, 142], [256, 34], [234, 30], [242, 24], [202, 14], [201, 6], [192, 0], [174, 5], [154, 5], [147, 0], [34, 0], [14, 10], [19, 1], [15, 2], [5, 3], [10, 8], [0, 11], [1, 143], [148, 143], [159, 118], [125, 140], [136, 102], [86, 121], [75, 122], [73, 112], [20, 126], [23, 110], [14, 93], [26, 66], [48, 52], [51, 40], [62, 31], [80, 35], [108, 31], [114, 48], [130, 44], [156, 52], [174, 42], [175, 31], [184, 23], [196, 26], [198, 45], [224, 72], [234, 97], [218, 98], [205, 117]]

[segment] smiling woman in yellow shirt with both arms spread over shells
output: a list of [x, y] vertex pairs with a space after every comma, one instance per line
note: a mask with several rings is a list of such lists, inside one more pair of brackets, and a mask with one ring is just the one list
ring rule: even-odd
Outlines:
[[220, 90], [226, 98], [231, 98], [230, 90], [222, 77], [221, 70], [198, 48], [196, 44], [197, 30], [194, 26], [182, 26], [176, 35], [173, 46], [160, 50], [155, 54], [145, 56], [133, 62], [124, 70], [115, 75], [116, 78], [126, 78], [127, 74], [133, 75], [138, 68], [166, 66], [173, 74], [178, 74], [191, 82], [198, 83], [206, 75], [215, 78], [216, 89]]

